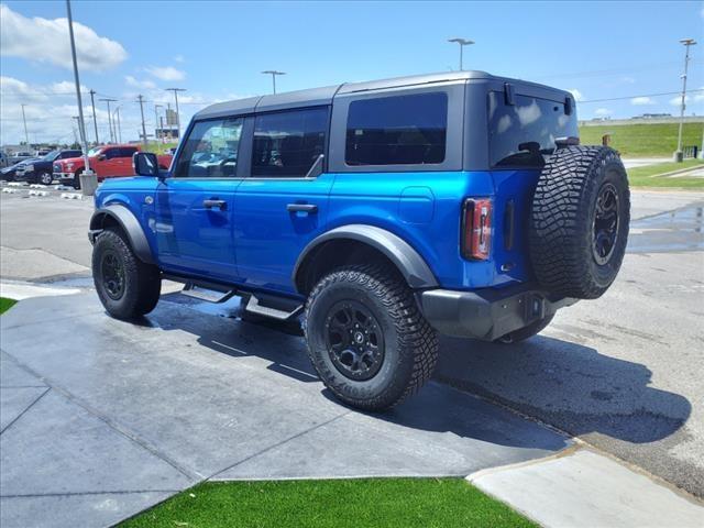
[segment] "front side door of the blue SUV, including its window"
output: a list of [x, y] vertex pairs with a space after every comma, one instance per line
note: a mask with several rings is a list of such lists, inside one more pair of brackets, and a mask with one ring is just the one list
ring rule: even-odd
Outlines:
[[154, 231], [168, 272], [237, 280], [232, 219], [242, 118], [196, 122], [156, 193]]

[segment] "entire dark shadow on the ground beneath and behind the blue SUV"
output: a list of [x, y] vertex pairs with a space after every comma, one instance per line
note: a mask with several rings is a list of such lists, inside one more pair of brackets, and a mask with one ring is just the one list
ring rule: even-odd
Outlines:
[[[318, 382], [298, 326], [242, 320], [237, 299], [211, 305], [184, 301], [174, 294], [163, 300], [170, 302], [160, 302], [143, 323], [184, 330], [210, 350], [233, 358], [255, 355], [271, 362], [270, 371], [305, 384]], [[178, 314], [184, 308], [200, 311], [202, 317], [184, 317]], [[548, 450], [566, 446], [566, 438], [546, 433], [503, 409], [516, 422], [531, 427], [515, 431], [497, 427], [496, 406], [472, 396], [479, 395], [573, 436], [595, 431], [629, 442], [651, 442], [680, 429], [691, 404], [678, 394], [650, 387], [650, 371], [641, 364], [559, 339], [536, 337], [505, 345], [442, 338], [435, 375], [440, 383], [428, 384], [394, 409], [367, 415], [502, 446]], [[329, 391], [322, 392], [334, 400]]]

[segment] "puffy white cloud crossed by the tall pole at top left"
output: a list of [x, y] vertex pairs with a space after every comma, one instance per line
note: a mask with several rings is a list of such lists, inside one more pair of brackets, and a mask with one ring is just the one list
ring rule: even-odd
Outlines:
[[[119, 42], [74, 22], [78, 65], [100, 72], [118, 66], [128, 53]], [[72, 69], [67, 19], [29, 19], [0, 4], [0, 53]]]

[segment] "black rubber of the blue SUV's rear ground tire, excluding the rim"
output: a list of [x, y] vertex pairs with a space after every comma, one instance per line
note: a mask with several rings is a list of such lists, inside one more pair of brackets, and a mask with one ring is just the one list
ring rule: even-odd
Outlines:
[[[333, 364], [326, 344], [326, 319], [336, 304], [352, 300], [378, 321], [384, 360], [374, 377], [351, 380]], [[438, 337], [422, 317], [413, 292], [395, 270], [352, 265], [324, 276], [312, 289], [304, 317], [308, 354], [324, 385], [345, 404], [383, 410], [415, 394], [438, 361]]]

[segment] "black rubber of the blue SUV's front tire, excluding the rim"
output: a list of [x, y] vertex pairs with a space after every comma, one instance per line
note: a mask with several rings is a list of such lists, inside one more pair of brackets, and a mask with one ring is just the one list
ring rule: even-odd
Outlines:
[[[124, 271], [124, 287], [119, 298], [110, 296], [103, 280], [102, 258], [106, 252], [110, 252]], [[158, 302], [162, 289], [158, 268], [140, 261], [121, 231], [106, 229], [98, 235], [92, 249], [92, 277], [102, 306], [117, 319], [144, 316]]]

